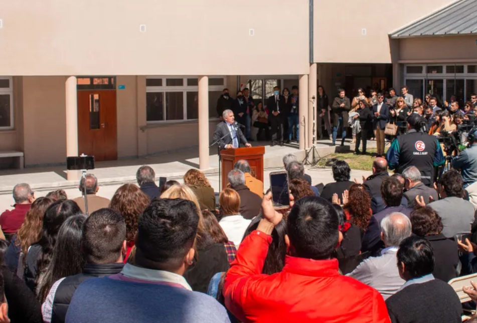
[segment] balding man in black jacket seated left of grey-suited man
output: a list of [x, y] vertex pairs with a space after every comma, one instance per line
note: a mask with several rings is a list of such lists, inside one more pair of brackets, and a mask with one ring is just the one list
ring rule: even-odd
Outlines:
[[382, 157], [375, 158], [373, 161], [373, 174], [368, 176], [363, 182], [365, 190], [371, 197], [371, 210], [373, 214], [381, 212], [385, 208], [384, 201], [381, 198], [381, 183], [388, 177], [388, 162], [386, 159]]

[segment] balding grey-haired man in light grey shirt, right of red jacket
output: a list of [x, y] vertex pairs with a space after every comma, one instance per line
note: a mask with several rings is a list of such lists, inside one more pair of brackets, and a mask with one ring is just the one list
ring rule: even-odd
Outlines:
[[375, 288], [387, 299], [405, 283], [399, 275], [396, 253], [402, 240], [411, 235], [411, 221], [400, 212], [394, 212], [381, 221], [381, 240], [385, 248], [378, 257], [364, 260], [348, 276]]

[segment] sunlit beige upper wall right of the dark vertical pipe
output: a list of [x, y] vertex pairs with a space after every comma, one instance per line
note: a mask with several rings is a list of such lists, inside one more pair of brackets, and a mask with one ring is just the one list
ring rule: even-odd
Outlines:
[[452, 2], [451, 0], [315, 1], [314, 62], [391, 63], [388, 34]]

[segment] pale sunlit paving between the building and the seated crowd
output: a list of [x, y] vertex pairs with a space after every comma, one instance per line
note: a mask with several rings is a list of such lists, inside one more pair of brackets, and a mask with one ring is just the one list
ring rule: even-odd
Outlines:
[[[267, 145], [268, 143], [254, 143], [254, 145]], [[371, 143], [371, 145], [374, 143]], [[345, 147], [346, 149], [348, 149]], [[316, 144], [320, 157], [335, 152], [336, 147], [331, 145], [329, 140], [321, 140]], [[350, 148], [353, 148], [351, 146]], [[304, 156], [304, 151], [298, 150], [296, 144], [285, 145], [283, 147], [266, 146], [265, 153], [265, 174], [264, 185], [269, 186], [269, 173], [280, 169], [281, 158], [287, 153], [294, 153], [300, 159]], [[215, 152], [215, 154], [214, 154]], [[216, 191], [219, 190], [218, 178], [218, 158], [217, 152], [211, 149], [211, 168], [207, 171], [207, 178]], [[135, 183], [135, 173], [140, 165], [151, 165], [156, 176], [165, 176], [168, 179], [176, 179], [182, 182], [184, 173], [193, 167], [199, 166], [198, 149], [193, 148], [181, 152], [162, 154], [160, 156], [150, 156], [139, 159], [127, 159], [117, 161], [107, 161], [97, 163], [97, 168], [93, 171], [100, 182], [98, 195], [111, 198], [116, 189], [127, 182]], [[267, 166], [268, 165], [268, 166]], [[331, 169], [306, 168], [306, 173], [312, 178], [313, 185], [319, 183], [329, 183], [333, 181]], [[361, 181], [362, 175], [368, 176], [371, 171], [353, 170], [351, 177]], [[80, 196], [80, 191], [76, 188], [77, 182], [66, 180], [66, 169], [64, 166], [26, 168], [24, 170], [4, 170], [0, 171], [0, 211], [10, 209], [14, 203], [11, 190], [17, 183], [27, 182], [35, 190], [35, 196], [46, 195], [49, 191], [62, 187], [69, 198]]]

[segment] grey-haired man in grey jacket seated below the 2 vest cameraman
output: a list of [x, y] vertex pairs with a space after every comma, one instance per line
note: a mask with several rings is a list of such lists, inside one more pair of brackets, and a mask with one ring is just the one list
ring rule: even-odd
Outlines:
[[429, 198], [432, 198], [433, 201], [437, 201], [439, 196], [437, 191], [432, 187], [428, 187], [421, 182], [421, 172], [417, 169], [416, 166], [409, 166], [402, 172], [406, 184], [406, 192], [404, 196], [407, 199], [408, 207], [414, 208], [416, 204], [416, 196], [422, 196], [424, 202], [427, 204]]

